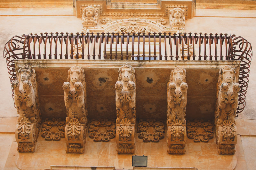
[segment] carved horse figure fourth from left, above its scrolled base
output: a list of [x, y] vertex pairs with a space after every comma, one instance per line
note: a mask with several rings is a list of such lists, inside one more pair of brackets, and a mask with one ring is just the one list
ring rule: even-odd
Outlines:
[[185, 112], [188, 89], [186, 70], [179, 67], [172, 70], [167, 86], [167, 124], [172, 124], [176, 119], [186, 124]]

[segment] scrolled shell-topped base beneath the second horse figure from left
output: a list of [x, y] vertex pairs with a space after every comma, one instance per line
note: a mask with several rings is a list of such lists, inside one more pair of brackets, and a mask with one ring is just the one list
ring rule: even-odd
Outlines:
[[84, 153], [85, 128], [78, 119], [72, 118], [65, 127], [67, 153]]

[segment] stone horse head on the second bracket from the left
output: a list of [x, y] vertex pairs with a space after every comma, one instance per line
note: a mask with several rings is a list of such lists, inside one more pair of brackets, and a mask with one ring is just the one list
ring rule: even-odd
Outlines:
[[79, 66], [73, 66], [68, 70], [68, 82], [75, 84], [78, 81], [84, 85], [84, 69]]

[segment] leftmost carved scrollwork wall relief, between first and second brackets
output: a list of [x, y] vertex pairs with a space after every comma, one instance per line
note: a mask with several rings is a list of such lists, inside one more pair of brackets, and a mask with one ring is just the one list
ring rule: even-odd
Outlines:
[[46, 119], [42, 123], [42, 137], [45, 140], [59, 141], [60, 138], [64, 138], [65, 121], [60, 118], [52, 118], [52, 120]]

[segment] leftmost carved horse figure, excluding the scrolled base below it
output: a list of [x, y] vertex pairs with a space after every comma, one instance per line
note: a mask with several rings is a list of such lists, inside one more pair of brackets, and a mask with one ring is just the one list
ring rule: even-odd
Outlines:
[[17, 107], [18, 122], [21, 118], [27, 117], [30, 122], [40, 122], [39, 101], [36, 89], [36, 73], [28, 65], [18, 71], [18, 80], [12, 82], [14, 90], [14, 103]]

